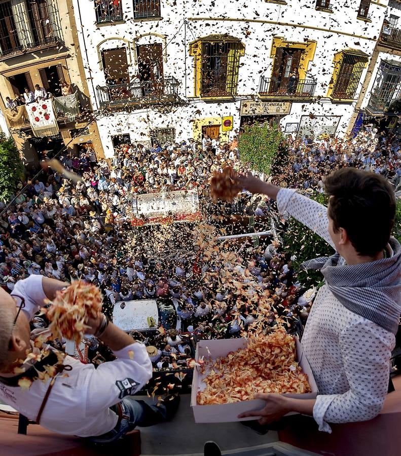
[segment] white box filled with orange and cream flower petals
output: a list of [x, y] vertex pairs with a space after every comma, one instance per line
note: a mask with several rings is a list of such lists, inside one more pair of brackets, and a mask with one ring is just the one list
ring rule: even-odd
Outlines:
[[248, 338], [201, 340], [196, 347], [191, 406], [196, 423], [255, 420], [238, 415], [264, 407], [256, 393], [314, 399], [317, 386], [298, 338], [283, 328]]

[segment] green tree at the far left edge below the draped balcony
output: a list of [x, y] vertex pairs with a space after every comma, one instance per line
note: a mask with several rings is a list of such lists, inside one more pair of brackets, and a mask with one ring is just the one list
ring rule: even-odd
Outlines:
[[24, 165], [14, 138], [0, 133], [0, 200], [8, 201], [24, 177]]

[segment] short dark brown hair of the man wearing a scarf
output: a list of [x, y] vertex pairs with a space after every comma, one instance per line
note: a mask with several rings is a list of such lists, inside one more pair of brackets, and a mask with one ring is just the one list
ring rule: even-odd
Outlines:
[[359, 255], [374, 256], [383, 250], [395, 218], [390, 183], [380, 174], [343, 168], [330, 174], [324, 186], [331, 197], [327, 213], [334, 231], [343, 228]]

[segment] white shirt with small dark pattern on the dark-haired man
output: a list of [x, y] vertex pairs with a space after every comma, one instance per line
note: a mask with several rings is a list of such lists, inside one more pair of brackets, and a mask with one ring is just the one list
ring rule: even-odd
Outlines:
[[[278, 192], [277, 207], [334, 248], [326, 207], [288, 188]], [[371, 420], [380, 412], [394, 345], [394, 334], [346, 309], [327, 285], [319, 289], [302, 347], [319, 389], [313, 417], [320, 431], [331, 432], [328, 423]]]

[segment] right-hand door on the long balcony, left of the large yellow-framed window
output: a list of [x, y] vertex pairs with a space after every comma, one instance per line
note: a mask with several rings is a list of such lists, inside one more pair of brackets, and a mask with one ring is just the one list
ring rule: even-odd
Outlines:
[[161, 44], [136, 47], [139, 81], [145, 94], [163, 90], [163, 47]]

